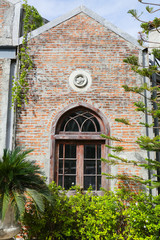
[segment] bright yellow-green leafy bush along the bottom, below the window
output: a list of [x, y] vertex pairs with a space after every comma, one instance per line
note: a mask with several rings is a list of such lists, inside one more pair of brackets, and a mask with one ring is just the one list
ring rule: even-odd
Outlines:
[[84, 194], [77, 188], [67, 197], [54, 183], [49, 188], [53, 204], [45, 202], [41, 216], [30, 206], [23, 221], [24, 239], [159, 239], [159, 208], [153, 207], [144, 192], [135, 194], [122, 188], [95, 196], [90, 190]]

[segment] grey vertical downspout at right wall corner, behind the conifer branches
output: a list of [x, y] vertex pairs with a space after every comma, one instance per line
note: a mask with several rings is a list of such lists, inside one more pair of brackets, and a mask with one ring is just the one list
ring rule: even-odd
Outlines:
[[[144, 49], [143, 52], [143, 68], [146, 67], [146, 56], [148, 55], [148, 49]], [[146, 81], [146, 77], [143, 77], [143, 82], [144, 84], [147, 82]], [[145, 104], [145, 108], [148, 108], [148, 103], [147, 103], [147, 91], [144, 90], [144, 104]], [[147, 111], [145, 111], [145, 122], [146, 124], [149, 123], [149, 119], [148, 119], [148, 114]], [[149, 136], [149, 129], [148, 127], [146, 127], [146, 136]], [[150, 159], [150, 152], [147, 151], [147, 158]], [[149, 162], [148, 162], [149, 164]], [[148, 180], [151, 180], [151, 171], [150, 169], [148, 169]], [[151, 184], [149, 184], [151, 186]], [[152, 189], [149, 188], [149, 193], [152, 195]]]

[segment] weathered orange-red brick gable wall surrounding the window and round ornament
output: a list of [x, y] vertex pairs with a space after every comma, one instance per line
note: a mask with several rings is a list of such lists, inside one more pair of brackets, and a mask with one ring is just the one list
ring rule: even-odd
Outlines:
[[[57, 114], [66, 106], [88, 103], [99, 109], [110, 126], [111, 135], [134, 141], [141, 128], [125, 126], [114, 121], [127, 117], [137, 124], [142, 116], [134, 111], [138, 96], [124, 92], [123, 84], [139, 84], [140, 79], [123, 62], [139, 50], [122, 37], [85, 15], [78, 14], [60, 25], [40, 34], [29, 42], [34, 69], [30, 74], [30, 101], [17, 119], [16, 143], [35, 149], [37, 159], [49, 174], [51, 126]], [[69, 86], [69, 76], [77, 69], [89, 71], [92, 85], [79, 93]], [[123, 144], [123, 154], [136, 158], [137, 146]], [[141, 154], [141, 152], [140, 152]], [[121, 172], [114, 168], [113, 172]], [[138, 170], [137, 170], [138, 171]]]

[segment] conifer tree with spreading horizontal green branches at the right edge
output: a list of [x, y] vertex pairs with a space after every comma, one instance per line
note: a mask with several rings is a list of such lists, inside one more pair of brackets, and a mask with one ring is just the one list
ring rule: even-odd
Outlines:
[[[154, 4], [154, 3], [146, 3], [143, 0], [139, 0], [141, 4], [147, 4], [150, 6], [146, 7], [146, 11], [149, 13], [154, 13], [158, 12], [160, 9], [154, 10], [151, 6], [156, 6], [159, 7], [160, 4]], [[135, 19], [140, 21], [141, 24], [141, 29], [142, 32], [140, 33], [140, 41], [141, 43], [144, 43], [148, 41], [148, 34], [152, 29], [157, 30], [159, 33], [159, 27], [160, 27], [160, 19], [159, 18], [154, 18], [153, 21], [148, 21], [144, 22], [141, 20], [141, 15], [138, 14], [137, 10], [129, 10], [128, 11]], [[145, 34], [145, 37], [144, 37]], [[159, 42], [160, 45], [160, 42]], [[154, 119], [154, 123], [148, 123], [148, 122], [139, 122], [139, 124], [131, 124], [128, 119], [120, 118], [120, 119], [115, 119], [116, 122], [119, 124], [125, 124], [126, 127], [130, 126], [134, 129], [134, 127], [146, 127], [146, 132], [148, 131], [149, 128], [153, 129], [153, 137], [149, 137], [146, 133], [147, 136], [139, 136], [137, 138], [137, 141], [135, 142], [130, 142], [130, 145], [138, 145], [140, 149], [142, 150], [147, 150], [148, 152], [154, 152], [155, 155], [153, 159], [150, 159], [151, 157], [149, 156], [146, 159], [140, 160], [140, 161], [135, 161], [135, 160], [128, 160], [124, 159], [120, 156], [116, 156], [114, 154], [109, 154], [108, 159], [102, 159], [103, 161], [107, 162], [110, 165], [120, 165], [122, 163], [125, 163], [125, 165], [129, 166], [138, 166], [145, 168], [149, 171], [152, 170], [157, 170], [157, 174], [152, 174], [151, 179], [149, 180], [144, 180], [138, 176], [134, 175], [123, 175], [123, 174], [117, 174], [117, 175], [109, 175], [105, 174], [107, 178], [109, 179], [120, 179], [120, 180], [129, 180], [129, 181], [135, 181], [136, 183], [141, 183], [147, 185], [149, 188], [158, 188], [158, 193], [160, 193], [160, 162], [158, 159], [156, 159], [156, 156], [158, 155], [160, 151], [160, 136], [159, 136], [159, 124], [160, 122], [160, 102], [159, 99], [157, 98], [157, 94], [160, 92], [160, 87], [156, 82], [153, 82], [153, 79], [156, 79], [157, 76], [160, 74], [160, 65], [159, 65], [159, 60], [160, 60], [160, 49], [153, 49], [152, 54], [155, 58], [155, 62], [151, 62], [151, 64], [145, 66], [144, 63], [140, 64], [138, 61], [137, 56], [129, 56], [126, 59], [124, 59], [124, 62], [129, 64], [131, 66], [131, 69], [139, 74], [140, 76], [145, 77], [144, 84], [141, 86], [128, 86], [128, 85], [123, 85], [122, 87], [126, 92], [133, 92], [135, 94], [138, 94], [141, 96], [143, 99], [142, 101], [138, 101], [134, 103], [135, 110], [142, 112], [146, 114], [146, 118], [151, 116]], [[152, 86], [146, 83], [146, 77], [151, 80]], [[148, 104], [149, 103], [149, 104]], [[121, 146], [121, 143], [127, 143], [125, 139], [119, 139], [116, 136], [105, 136], [102, 135], [102, 137], [111, 140], [111, 143], [113, 141], [117, 142], [119, 144], [116, 147], [106, 145], [108, 148], [111, 148], [114, 152], [122, 152], [126, 150], [124, 147]], [[117, 151], [116, 151], [117, 149]], [[157, 155], [156, 155], [157, 154]], [[153, 154], [152, 154], [153, 156]], [[152, 171], [153, 173], [153, 171]]]

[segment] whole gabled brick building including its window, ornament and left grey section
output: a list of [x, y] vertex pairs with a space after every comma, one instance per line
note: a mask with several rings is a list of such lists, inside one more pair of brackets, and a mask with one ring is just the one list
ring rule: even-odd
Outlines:
[[[17, 66], [20, 2], [0, 0], [0, 141], [32, 148], [48, 177], [69, 188], [78, 184], [113, 188], [101, 172], [133, 173], [138, 167], [109, 167], [108, 143], [100, 134], [123, 138], [120, 155], [143, 160], [146, 153], [132, 144], [145, 129], [138, 126], [143, 115], [134, 111], [139, 96], [126, 93], [122, 85], [140, 85], [123, 62], [129, 55], [142, 59], [137, 41], [84, 6], [34, 30], [28, 47], [34, 68], [29, 74], [29, 103], [15, 116], [11, 106], [12, 75]], [[8, 14], [10, 11], [10, 14]], [[137, 127], [122, 125], [115, 118], [128, 118]], [[130, 143], [127, 143], [127, 142]]]

